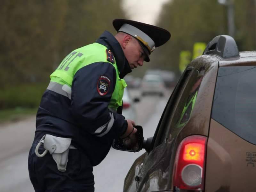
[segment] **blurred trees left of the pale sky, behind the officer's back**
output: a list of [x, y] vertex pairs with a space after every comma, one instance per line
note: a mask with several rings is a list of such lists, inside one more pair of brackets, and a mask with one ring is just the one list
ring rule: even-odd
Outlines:
[[3, 86], [48, 81], [69, 52], [114, 32], [115, 18], [124, 18], [118, 0], [0, 1]]

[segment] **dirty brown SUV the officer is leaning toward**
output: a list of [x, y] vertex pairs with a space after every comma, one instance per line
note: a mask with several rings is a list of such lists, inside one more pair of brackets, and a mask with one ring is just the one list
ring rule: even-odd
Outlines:
[[124, 192], [255, 192], [256, 51], [238, 52], [230, 36], [212, 39], [182, 74], [155, 135], [141, 135], [137, 149], [146, 152]]

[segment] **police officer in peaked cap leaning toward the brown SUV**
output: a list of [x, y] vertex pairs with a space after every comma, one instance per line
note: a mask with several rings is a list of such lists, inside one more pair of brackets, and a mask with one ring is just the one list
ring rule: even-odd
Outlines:
[[92, 167], [115, 138], [132, 137], [122, 116], [123, 77], [149, 61], [171, 34], [156, 26], [116, 19], [113, 36], [70, 52], [51, 74], [36, 115], [29, 177], [36, 192], [94, 191]]

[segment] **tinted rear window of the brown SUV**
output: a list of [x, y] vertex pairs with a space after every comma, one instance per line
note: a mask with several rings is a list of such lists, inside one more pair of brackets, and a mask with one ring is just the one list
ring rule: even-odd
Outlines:
[[244, 140], [256, 144], [256, 67], [220, 67], [212, 118]]

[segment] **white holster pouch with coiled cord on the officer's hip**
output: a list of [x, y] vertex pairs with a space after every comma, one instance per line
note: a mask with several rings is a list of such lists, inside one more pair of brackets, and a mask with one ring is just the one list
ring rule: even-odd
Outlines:
[[[38, 149], [42, 143], [44, 143], [45, 151], [43, 154], [39, 154]], [[71, 138], [62, 138], [46, 134], [36, 146], [35, 153], [36, 156], [43, 157], [49, 151], [57, 164], [58, 170], [65, 172], [70, 148], [75, 148], [71, 146]]]

